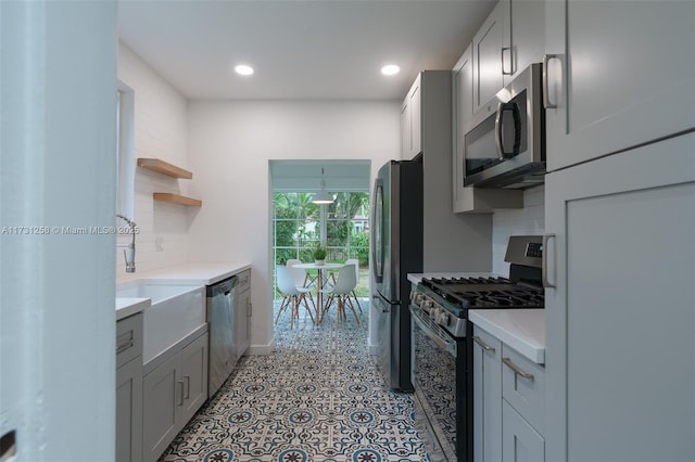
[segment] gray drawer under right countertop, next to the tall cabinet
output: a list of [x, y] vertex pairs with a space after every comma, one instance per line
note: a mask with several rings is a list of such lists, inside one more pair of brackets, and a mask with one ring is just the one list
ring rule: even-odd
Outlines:
[[502, 396], [541, 434], [545, 431], [545, 369], [502, 346]]

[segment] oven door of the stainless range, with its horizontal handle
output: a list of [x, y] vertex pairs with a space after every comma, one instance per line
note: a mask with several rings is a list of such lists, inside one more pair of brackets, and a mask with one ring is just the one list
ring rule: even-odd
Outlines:
[[433, 323], [419, 307], [410, 307], [413, 329], [413, 376], [415, 380], [415, 424], [432, 461], [456, 462], [457, 447], [463, 445], [457, 387], [462, 371], [458, 357], [460, 341], [451, 337]]

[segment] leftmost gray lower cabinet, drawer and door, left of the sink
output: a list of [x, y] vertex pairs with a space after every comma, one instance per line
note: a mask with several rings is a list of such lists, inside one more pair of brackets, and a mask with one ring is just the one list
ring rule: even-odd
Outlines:
[[116, 323], [116, 461], [142, 454], [142, 315]]

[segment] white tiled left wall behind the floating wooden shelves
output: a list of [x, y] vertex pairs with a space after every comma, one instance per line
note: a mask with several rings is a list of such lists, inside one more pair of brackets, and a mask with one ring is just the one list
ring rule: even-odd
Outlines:
[[[190, 169], [186, 99], [121, 42], [118, 78], [135, 91], [135, 159], [156, 157]], [[197, 180], [194, 171], [192, 180], [185, 180], [136, 168], [135, 221], [140, 230], [136, 236], [136, 273], [186, 261], [188, 228], [198, 209], [155, 202], [152, 193], [187, 195]], [[118, 241], [127, 243], [128, 240], [128, 236], [121, 236]], [[155, 245], [155, 241], [162, 245]], [[126, 274], [123, 249], [117, 251], [116, 265], [116, 275], [123, 278]]]

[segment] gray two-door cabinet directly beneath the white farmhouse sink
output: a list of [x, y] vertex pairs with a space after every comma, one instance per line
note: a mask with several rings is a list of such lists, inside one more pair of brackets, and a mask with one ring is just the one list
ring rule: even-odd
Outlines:
[[207, 333], [142, 382], [143, 461], [156, 461], [207, 398]]

